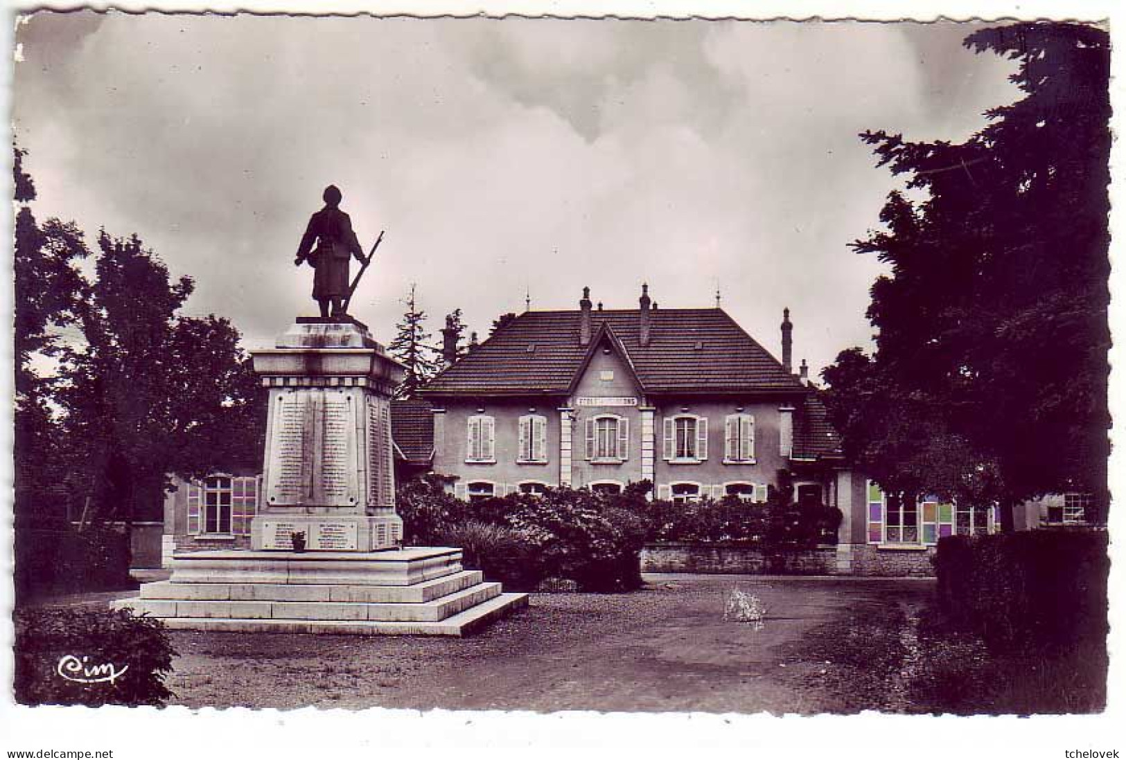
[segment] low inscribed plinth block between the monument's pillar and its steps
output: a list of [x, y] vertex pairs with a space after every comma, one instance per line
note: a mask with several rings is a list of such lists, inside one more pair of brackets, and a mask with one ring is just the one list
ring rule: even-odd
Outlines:
[[270, 512], [250, 523], [250, 548], [254, 551], [293, 551], [293, 533], [305, 536], [312, 552], [373, 552], [397, 549], [403, 540], [399, 515], [291, 515]]

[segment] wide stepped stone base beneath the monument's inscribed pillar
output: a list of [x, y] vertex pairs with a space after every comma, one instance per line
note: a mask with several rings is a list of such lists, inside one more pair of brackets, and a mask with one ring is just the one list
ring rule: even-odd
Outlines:
[[216, 551], [181, 554], [167, 581], [110, 603], [189, 631], [463, 636], [528, 604], [462, 552]]

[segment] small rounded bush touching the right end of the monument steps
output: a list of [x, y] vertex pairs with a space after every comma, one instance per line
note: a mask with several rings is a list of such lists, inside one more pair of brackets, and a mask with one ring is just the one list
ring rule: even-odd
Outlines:
[[486, 580], [500, 581], [509, 590], [530, 591], [543, 579], [539, 562], [519, 531], [470, 519], [447, 526], [438, 536], [438, 543], [461, 548], [466, 568], [481, 570]]

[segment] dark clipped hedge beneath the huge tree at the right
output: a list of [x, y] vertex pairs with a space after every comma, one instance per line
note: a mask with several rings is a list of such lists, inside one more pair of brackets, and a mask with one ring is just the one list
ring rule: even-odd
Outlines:
[[1109, 563], [1103, 532], [945, 537], [935, 558], [939, 604], [994, 649], [1102, 642]]

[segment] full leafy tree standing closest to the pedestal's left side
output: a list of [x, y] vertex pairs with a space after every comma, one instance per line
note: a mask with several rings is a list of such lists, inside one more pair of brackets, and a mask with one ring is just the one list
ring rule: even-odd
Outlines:
[[75, 306], [83, 341], [61, 351], [60, 455], [95, 522], [131, 525], [157, 516], [169, 473], [202, 474], [254, 449], [260, 393], [226, 319], [177, 314], [189, 278], [173, 282], [136, 236], [102, 232], [98, 246]]

